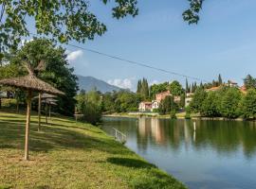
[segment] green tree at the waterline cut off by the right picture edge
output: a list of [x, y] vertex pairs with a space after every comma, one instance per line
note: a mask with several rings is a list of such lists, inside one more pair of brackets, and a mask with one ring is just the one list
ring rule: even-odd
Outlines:
[[242, 100], [241, 107], [243, 116], [245, 118], [256, 118], [256, 90], [249, 89], [246, 96]]

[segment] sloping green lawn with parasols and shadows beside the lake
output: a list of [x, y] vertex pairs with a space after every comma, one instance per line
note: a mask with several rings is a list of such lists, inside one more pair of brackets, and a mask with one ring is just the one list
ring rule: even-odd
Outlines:
[[185, 188], [101, 129], [54, 117], [38, 132], [36, 118], [31, 119], [26, 162], [25, 114], [0, 112], [0, 189]]

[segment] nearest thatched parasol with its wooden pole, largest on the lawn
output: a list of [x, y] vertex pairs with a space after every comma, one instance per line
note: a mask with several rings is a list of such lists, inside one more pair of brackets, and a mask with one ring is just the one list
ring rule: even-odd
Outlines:
[[34, 76], [34, 73], [28, 63], [25, 64], [28, 75], [26, 77], [13, 77], [0, 80], [0, 85], [7, 85], [16, 88], [27, 90], [27, 123], [26, 123], [26, 138], [25, 138], [25, 160], [28, 160], [28, 139], [29, 125], [31, 112], [32, 92], [48, 93], [48, 94], [64, 94], [55, 89], [50, 84]]

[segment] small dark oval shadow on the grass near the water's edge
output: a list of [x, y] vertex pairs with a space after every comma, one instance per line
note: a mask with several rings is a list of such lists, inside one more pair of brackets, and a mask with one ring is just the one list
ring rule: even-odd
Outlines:
[[108, 158], [107, 162], [134, 168], [156, 168], [155, 164], [146, 163], [132, 158]]

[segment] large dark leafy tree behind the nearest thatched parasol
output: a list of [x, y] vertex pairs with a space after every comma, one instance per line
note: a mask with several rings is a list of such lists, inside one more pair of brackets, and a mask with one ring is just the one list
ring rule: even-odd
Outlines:
[[25, 43], [18, 51], [11, 51], [9, 66], [16, 66], [14, 69], [16, 71], [12, 72], [24, 76], [26, 72], [20, 67], [21, 62], [28, 60], [33, 67], [36, 67], [43, 60], [45, 71], [35, 74], [65, 93], [64, 96], [58, 97], [58, 107], [55, 109], [65, 115], [72, 115], [75, 109], [74, 96], [77, 93], [78, 85], [77, 77], [73, 74], [74, 69], [68, 68], [69, 64], [64, 51], [64, 48], [57, 47], [48, 40], [34, 39], [34, 41]]

